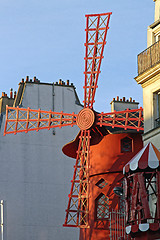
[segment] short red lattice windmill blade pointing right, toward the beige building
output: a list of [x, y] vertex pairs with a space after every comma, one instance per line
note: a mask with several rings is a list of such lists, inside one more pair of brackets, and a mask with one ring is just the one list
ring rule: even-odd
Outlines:
[[96, 124], [100, 127], [109, 126], [127, 129], [144, 130], [143, 108], [114, 111], [111, 113], [97, 114]]

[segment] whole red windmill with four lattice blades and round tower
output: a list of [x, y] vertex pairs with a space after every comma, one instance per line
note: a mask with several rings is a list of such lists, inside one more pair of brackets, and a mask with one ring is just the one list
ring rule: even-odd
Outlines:
[[80, 128], [75, 141], [63, 148], [66, 155], [76, 158], [64, 226], [79, 227], [80, 240], [109, 239], [117, 234], [110, 212], [123, 204], [113, 190], [122, 184], [124, 164], [142, 148], [142, 108], [110, 113], [93, 109], [110, 16], [86, 15], [84, 108], [78, 114], [19, 106], [6, 109], [4, 135], [74, 125]]

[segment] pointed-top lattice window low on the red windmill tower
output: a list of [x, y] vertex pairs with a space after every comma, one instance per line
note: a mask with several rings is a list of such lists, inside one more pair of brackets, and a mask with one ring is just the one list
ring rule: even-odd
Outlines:
[[96, 199], [96, 220], [109, 219], [109, 198], [101, 193]]

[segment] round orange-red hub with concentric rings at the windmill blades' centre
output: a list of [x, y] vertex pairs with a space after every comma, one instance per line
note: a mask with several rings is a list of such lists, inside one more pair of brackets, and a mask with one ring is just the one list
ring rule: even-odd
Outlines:
[[82, 109], [77, 116], [77, 125], [81, 130], [91, 128], [95, 121], [95, 114], [90, 108]]

